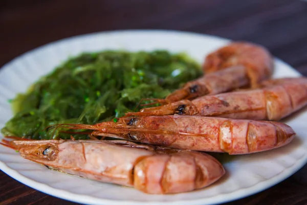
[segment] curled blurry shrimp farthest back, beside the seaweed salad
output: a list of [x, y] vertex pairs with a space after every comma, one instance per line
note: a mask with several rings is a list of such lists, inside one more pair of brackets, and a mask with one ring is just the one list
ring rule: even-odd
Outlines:
[[151, 104], [165, 105], [242, 87], [255, 88], [260, 81], [271, 77], [274, 64], [271, 54], [265, 48], [235, 42], [209, 54], [203, 69], [206, 75], [189, 81], [165, 99], [153, 99], [155, 102]]

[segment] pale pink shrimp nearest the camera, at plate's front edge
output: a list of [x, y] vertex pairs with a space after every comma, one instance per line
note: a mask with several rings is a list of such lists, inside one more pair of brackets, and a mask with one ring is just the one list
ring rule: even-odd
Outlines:
[[124, 140], [15, 140], [11, 145], [24, 158], [50, 169], [148, 194], [201, 189], [225, 174], [208, 154]]

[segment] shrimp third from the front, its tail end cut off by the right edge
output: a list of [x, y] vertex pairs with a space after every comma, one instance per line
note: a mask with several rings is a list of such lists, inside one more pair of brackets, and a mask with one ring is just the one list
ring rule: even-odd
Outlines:
[[179, 114], [278, 121], [306, 105], [307, 78], [280, 78], [264, 81], [259, 89], [180, 100], [126, 116]]

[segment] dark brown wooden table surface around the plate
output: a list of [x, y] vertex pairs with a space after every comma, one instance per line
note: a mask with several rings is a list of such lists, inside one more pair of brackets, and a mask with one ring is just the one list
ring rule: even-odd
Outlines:
[[[262, 44], [307, 75], [307, 2], [298, 0], [2, 0], [0, 66], [43, 44], [118, 29], [172, 29]], [[307, 204], [307, 166], [234, 204]], [[0, 204], [75, 204], [0, 172]]]

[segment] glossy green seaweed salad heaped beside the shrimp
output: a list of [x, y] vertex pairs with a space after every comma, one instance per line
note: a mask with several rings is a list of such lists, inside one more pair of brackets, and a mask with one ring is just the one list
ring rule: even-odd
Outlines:
[[[202, 75], [184, 53], [102, 51], [70, 58], [11, 100], [14, 117], [5, 136], [68, 139], [55, 124], [95, 124], [133, 111], [142, 98], [164, 98]], [[146, 103], [146, 101], [144, 102]], [[85, 134], [74, 134], [86, 139]]]

